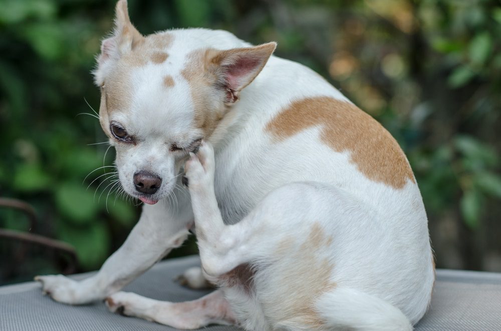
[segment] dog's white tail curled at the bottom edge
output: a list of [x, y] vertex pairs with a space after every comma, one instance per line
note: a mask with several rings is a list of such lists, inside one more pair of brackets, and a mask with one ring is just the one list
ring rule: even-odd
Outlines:
[[400, 309], [374, 295], [352, 288], [323, 294], [317, 311], [326, 326], [371, 331], [410, 331], [412, 325]]

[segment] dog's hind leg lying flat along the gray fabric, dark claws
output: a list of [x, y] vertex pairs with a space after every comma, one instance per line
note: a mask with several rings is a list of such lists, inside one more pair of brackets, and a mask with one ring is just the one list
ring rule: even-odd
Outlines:
[[208, 324], [235, 324], [235, 318], [221, 290], [215, 290], [197, 300], [167, 302], [150, 299], [135, 293], [117, 292], [106, 298], [111, 311], [135, 316], [182, 329]]

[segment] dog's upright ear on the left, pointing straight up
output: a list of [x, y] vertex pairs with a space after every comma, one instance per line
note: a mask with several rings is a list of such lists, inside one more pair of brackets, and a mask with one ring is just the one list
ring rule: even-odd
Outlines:
[[98, 66], [112, 59], [119, 59], [144, 41], [144, 36], [132, 25], [127, 10], [127, 0], [120, 0], [115, 6], [115, 27], [113, 35], [101, 43]]

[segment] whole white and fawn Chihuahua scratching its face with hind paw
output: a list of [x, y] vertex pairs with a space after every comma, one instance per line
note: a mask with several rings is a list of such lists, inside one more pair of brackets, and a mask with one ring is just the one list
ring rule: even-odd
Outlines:
[[[123, 188], [146, 204], [97, 274], [39, 276], [43, 290], [185, 329], [411, 330], [434, 265], [393, 137], [320, 75], [273, 56], [274, 42], [200, 28], [143, 36], [125, 0], [115, 24], [95, 71], [100, 122]], [[203, 273], [219, 289], [181, 303], [119, 291], [189, 229], [202, 271], [188, 281]]]

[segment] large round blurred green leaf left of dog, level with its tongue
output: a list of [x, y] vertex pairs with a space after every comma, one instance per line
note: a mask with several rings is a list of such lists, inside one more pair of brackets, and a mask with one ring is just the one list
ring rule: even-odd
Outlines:
[[57, 187], [56, 204], [63, 215], [75, 224], [94, 221], [99, 210], [99, 204], [94, 202], [94, 193], [73, 182]]

